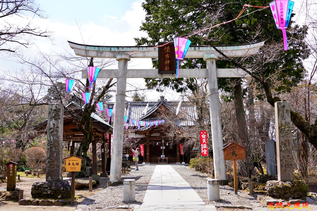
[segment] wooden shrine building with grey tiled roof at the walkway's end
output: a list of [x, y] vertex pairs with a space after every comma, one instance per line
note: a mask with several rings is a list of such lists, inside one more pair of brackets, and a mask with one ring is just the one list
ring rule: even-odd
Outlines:
[[[181, 132], [195, 125], [196, 106], [191, 102], [167, 101], [164, 96], [161, 96], [157, 102], [126, 102], [125, 116], [128, 119], [129, 129], [133, 128], [132, 131], [134, 131], [129, 137], [139, 139], [135, 148], [139, 147], [139, 144], [144, 144], [144, 157], [139, 156], [139, 163], [158, 163], [163, 154], [163, 145], [164, 156], [168, 158], [165, 161], [167, 160], [168, 163], [189, 163], [190, 155], [188, 153], [184, 152], [184, 156], [180, 155], [179, 144], [183, 144], [184, 138], [176, 138], [173, 131], [176, 129], [176, 131]], [[137, 123], [133, 126], [131, 119], [135, 119], [135, 122], [140, 120], [140, 127], [136, 126]], [[165, 120], [165, 123], [157, 126], [154, 124], [146, 126], [145, 124], [162, 119]], [[172, 126], [171, 122], [173, 122]], [[129, 154], [131, 164], [134, 163], [132, 151], [126, 149], [126, 152]]]

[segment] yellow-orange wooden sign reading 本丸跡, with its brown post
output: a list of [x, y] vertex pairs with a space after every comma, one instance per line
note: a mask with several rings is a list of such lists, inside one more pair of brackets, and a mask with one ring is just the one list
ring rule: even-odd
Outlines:
[[69, 157], [63, 159], [66, 160], [66, 171], [69, 172], [69, 175], [72, 175], [70, 205], [73, 206], [75, 201], [75, 172], [80, 171], [81, 160], [83, 158], [77, 157], [75, 155], [70, 155]]

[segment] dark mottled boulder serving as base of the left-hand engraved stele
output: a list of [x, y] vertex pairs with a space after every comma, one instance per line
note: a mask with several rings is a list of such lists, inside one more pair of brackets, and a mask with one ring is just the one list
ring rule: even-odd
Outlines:
[[32, 185], [33, 198], [70, 198], [71, 186], [68, 181], [35, 182]]

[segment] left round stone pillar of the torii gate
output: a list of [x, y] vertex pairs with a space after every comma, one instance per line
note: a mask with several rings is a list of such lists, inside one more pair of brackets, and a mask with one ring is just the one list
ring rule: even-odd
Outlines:
[[117, 55], [118, 61], [118, 78], [116, 90], [116, 103], [114, 109], [113, 121], [113, 144], [112, 158], [110, 165], [110, 182], [121, 181], [121, 163], [122, 163], [122, 148], [123, 148], [123, 119], [126, 102], [126, 72], [130, 57], [127, 55]]

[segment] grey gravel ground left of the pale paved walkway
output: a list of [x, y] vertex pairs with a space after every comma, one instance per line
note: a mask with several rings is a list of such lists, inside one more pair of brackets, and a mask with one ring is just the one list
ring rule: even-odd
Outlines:
[[[151, 180], [152, 174], [156, 166], [139, 166], [139, 171], [132, 171], [128, 174], [122, 175], [121, 179], [135, 179], [135, 201], [133, 203], [122, 202], [123, 199], [123, 185], [113, 186], [107, 188], [107, 181], [109, 178], [101, 179], [98, 189], [104, 189], [97, 192], [95, 195], [84, 199], [76, 210], [107, 210], [120, 209], [132, 210], [134, 204], [142, 204], [148, 183]], [[106, 189], [105, 189], [106, 188]]]

